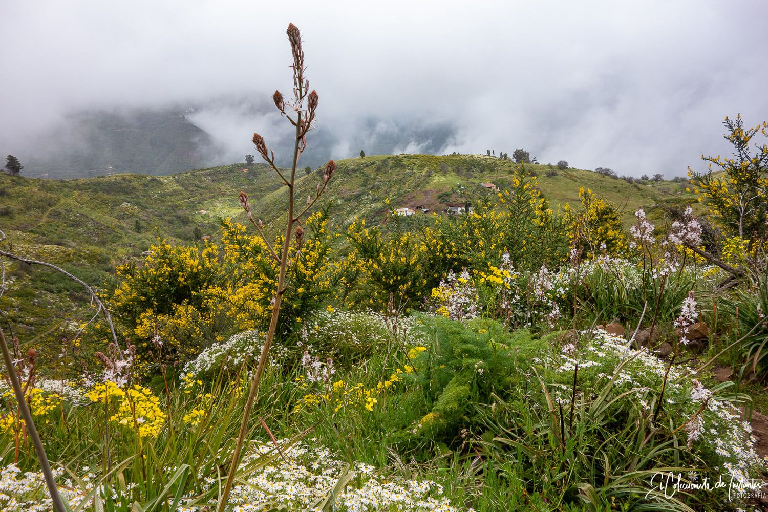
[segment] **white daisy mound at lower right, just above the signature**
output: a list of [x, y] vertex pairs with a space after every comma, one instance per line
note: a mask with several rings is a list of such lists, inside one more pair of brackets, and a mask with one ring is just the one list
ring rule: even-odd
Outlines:
[[634, 350], [626, 339], [602, 329], [591, 332], [591, 339], [582, 339], [579, 346], [567, 345], [548, 363], [558, 375], [554, 398], [562, 404], [571, 400], [572, 387], [566, 383], [573, 382], [578, 364], [579, 388], [612, 386], [611, 395], [627, 393], [626, 399], [640, 405], [643, 414], [651, 413], [650, 402], [659, 394], [666, 375], [662, 406], [675, 428], [687, 434], [694, 456], [714, 471], [727, 474], [735, 485], [748, 487], [750, 479], [763, 474], [766, 461], [754, 451], [750, 424], [740, 419], [737, 408], [691, 378], [689, 368], [670, 367], [647, 348]]

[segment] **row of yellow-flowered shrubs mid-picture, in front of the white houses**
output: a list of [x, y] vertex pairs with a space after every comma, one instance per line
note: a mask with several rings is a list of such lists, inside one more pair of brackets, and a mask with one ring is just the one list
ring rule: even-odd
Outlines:
[[359, 301], [383, 306], [389, 294], [412, 305], [435, 299], [449, 271], [485, 271], [504, 253], [521, 269], [564, 263], [569, 217], [551, 210], [537, 187], [535, 177], [520, 167], [497, 196], [475, 201], [469, 213], [432, 216], [418, 230], [406, 230], [409, 220], [395, 215], [389, 217], [388, 232], [355, 220], [346, 233], [353, 247], [346, 262], [356, 270], [364, 295]]

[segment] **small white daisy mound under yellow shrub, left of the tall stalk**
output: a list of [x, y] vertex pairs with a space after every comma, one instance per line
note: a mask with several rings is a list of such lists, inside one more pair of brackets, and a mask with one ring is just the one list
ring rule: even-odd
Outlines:
[[[233, 335], [227, 341], [214, 343], [206, 348], [197, 358], [184, 365], [183, 377], [197, 378], [217, 372], [221, 368], [237, 369], [247, 358], [258, 357], [264, 346], [264, 333], [245, 331]], [[270, 349], [270, 363], [283, 359], [288, 351], [280, 344], [274, 343]]]

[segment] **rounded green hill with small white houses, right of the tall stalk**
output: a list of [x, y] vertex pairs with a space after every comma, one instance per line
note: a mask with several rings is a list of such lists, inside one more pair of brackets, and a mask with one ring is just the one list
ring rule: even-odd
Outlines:
[[[466, 200], [492, 193], [481, 183], [495, 183], [503, 188], [518, 165], [485, 155], [410, 154], [351, 158], [337, 164], [326, 195], [326, 200], [333, 200], [331, 213], [336, 225], [349, 223], [354, 216], [383, 220], [388, 210], [384, 202], [387, 198], [392, 208], [423, 206], [429, 209], [429, 214], [442, 213], [449, 203], [464, 204]], [[628, 183], [589, 170], [557, 170], [539, 164], [526, 164], [525, 168], [537, 175], [539, 189], [553, 208], [566, 203], [578, 206], [578, 190], [587, 187], [621, 206], [627, 226], [634, 222], [634, 212], [639, 206], [653, 213], [652, 206], [656, 204], [694, 202], [693, 194], [685, 192], [686, 183]], [[313, 193], [318, 181], [319, 173], [302, 177], [297, 188], [299, 197]], [[282, 212], [285, 201], [286, 190], [275, 190], [257, 204], [254, 214], [265, 223], [274, 223], [276, 212]], [[660, 216], [660, 212], [656, 216]]]

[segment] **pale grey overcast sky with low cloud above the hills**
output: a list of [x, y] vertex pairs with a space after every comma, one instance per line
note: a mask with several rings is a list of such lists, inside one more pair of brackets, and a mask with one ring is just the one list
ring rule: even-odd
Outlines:
[[[523, 147], [544, 163], [673, 177], [727, 150], [724, 116], [768, 119], [761, 0], [3, 0], [0, 18], [9, 152], [73, 111], [290, 92], [289, 21], [337, 157], [359, 151], [344, 137], [360, 119], [381, 118], [449, 124], [442, 153]], [[280, 122], [209, 114], [200, 127], [246, 143]]]

